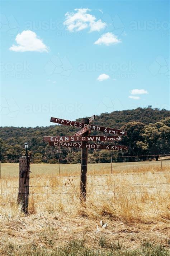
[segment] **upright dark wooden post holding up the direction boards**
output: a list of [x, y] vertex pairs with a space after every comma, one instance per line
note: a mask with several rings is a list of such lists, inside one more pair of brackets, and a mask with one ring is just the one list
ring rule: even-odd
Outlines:
[[[89, 124], [88, 118], [82, 118], [82, 123]], [[89, 131], [83, 135], [87, 136]], [[86, 142], [82, 142], [86, 144]], [[80, 173], [80, 200], [86, 201], [86, 184], [87, 184], [87, 168], [88, 168], [88, 149], [81, 149], [81, 173]]]

